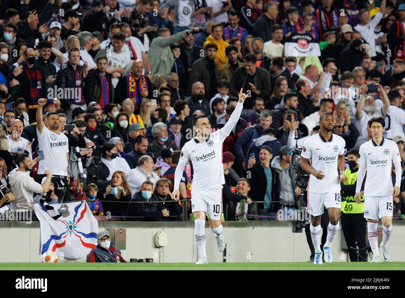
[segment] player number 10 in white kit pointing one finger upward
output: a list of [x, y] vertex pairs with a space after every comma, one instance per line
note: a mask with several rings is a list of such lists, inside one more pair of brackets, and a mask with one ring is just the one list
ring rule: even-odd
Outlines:
[[239, 103], [222, 129], [211, 133], [211, 123], [207, 116], [198, 115], [193, 119], [196, 137], [183, 146], [180, 160], [175, 172], [173, 199], [180, 199], [179, 184], [183, 176], [183, 169], [189, 159], [193, 163], [194, 176], [191, 189], [191, 208], [194, 215], [195, 236], [200, 258], [196, 264], [208, 264], [205, 253], [205, 216], [208, 214], [209, 226], [214, 232], [219, 251], [224, 251], [225, 240], [222, 236], [224, 228], [222, 217], [222, 184], [224, 169], [222, 166], [222, 143], [237, 124], [243, 102], [247, 95], [242, 89], [239, 93]]

